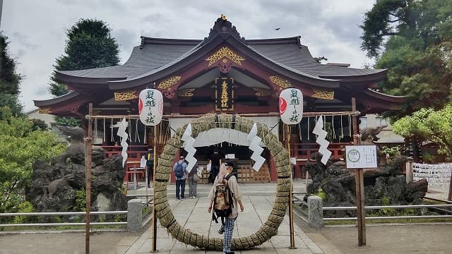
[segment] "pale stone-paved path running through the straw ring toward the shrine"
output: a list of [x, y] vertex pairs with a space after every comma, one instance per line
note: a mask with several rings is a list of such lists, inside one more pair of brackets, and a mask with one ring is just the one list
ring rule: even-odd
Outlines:
[[[143, 183], [141, 183], [144, 186]], [[172, 207], [174, 217], [179, 224], [186, 229], [195, 231], [205, 236], [222, 237], [217, 230], [220, 224], [211, 221], [211, 214], [207, 212], [210, 184], [200, 184], [198, 186], [198, 198], [186, 200], [174, 200], [174, 185], [168, 186], [169, 205]], [[249, 236], [254, 234], [258, 228], [266, 221], [270, 210], [273, 208], [275, 198], [276, 183], [239, 183], [242, 191], [244, 212], [239, 213], [239, 217], [234, 227], [233, 237]], [[304, 191], [304, 181], [294, 181], [294, 191]], [[188, 191], [188, 186], [186, 188]], [[148, 190], [150, 193], [151, 190]], [[143, 187], [129, 193], [145, 193]], [[188, 197], [188, 195], [186, 195]], [[220, 222], [221, 223], [221, 222]], [[286, 215], [278, 229], [278, 235], [273, 236], [270, 241], [251, 250], [236, 251], [235, 253], [324, 253], [302, 229], [295, 224], [295, 249], [290, 249], [290, 229], [289, 217]], [[117, 244], [119, 251], [125, 250], [125, 254], [149, 253], [151, 248], [151, 224], [146, 225], [147, 229], [138, 238], [124, 238]], [[165, 228], [160, 224], [157, 227], [157, 253], [219, 253], [218, 251], [201, 250], [193, 246], [188, 246], [172, 239], [167, 234]]]

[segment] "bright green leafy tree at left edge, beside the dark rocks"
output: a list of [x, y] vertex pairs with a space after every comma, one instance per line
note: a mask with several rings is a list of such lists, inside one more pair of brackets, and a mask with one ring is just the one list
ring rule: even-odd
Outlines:
[[50, 162], [64, 151], [57, 135], [33, 130], [34, 123], [0, 108], [0, 212], [18, 212], [25, 186], [31, 181], [32, 163]]

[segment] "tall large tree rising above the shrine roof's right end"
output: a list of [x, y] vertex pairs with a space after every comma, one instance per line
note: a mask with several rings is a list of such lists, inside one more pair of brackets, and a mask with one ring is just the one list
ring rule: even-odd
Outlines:
[[441, 109], [450, 101], [452, 1], [377, 0], [364, 14], [362, 49], [388, 68], [379, 90], [406, 95], [401, 117], [423, 107]]

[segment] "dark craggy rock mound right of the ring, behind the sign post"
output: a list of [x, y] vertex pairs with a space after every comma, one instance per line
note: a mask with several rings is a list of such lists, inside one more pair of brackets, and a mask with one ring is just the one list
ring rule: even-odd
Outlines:
[[[364, 202], [366, 205], [408, 205], [420, 204], [427, 191], [427, 181], [407, 184], [402, 174], [405, 157], [392, 159], [377, 170], [364, 174]], [[308, 194], [325, 197], [324, 206], [353, 206], [355, 197], [355, 170], [346, 169], [345, 162], [330, 159], [327, 166], [316, 162], [306, 167], [312, 183], [307, 186]], [[329, 217], [353, 217], [354, 210], [326, 211]]]

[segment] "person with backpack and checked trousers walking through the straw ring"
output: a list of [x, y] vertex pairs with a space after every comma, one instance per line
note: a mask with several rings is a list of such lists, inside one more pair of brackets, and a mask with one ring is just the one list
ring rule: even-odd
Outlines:
[[234, 253], [231, 251], [232, 231], [239, 214], [237, 203], [240, 205], [240, 212], [244, 210], [242, 194], [239, 192], [237, 179], [232, 174], [233, 169], [232, 162], [221, 164], [220, 172], [210, 189], [210, 205], [208, 207], [208, 212], [211, 212], [213, 208], [215, 222], [218, 222], [217, 218], [221, 217], [222, 225], [218, 229], [218, 234], [223, 234], [223, 253], [232, 254]]

